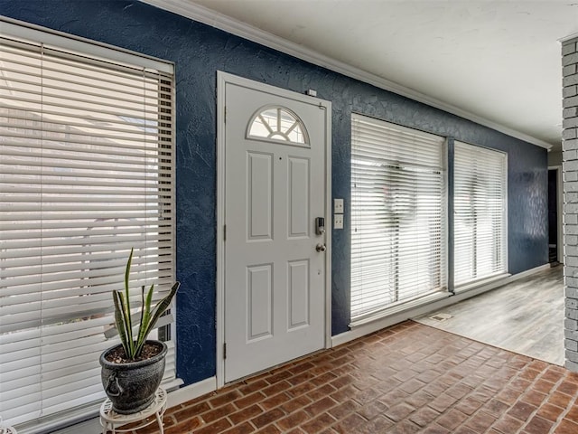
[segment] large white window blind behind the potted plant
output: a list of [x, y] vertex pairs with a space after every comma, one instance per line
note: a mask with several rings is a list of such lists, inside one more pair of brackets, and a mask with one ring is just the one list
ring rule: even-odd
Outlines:
[[[141, 285], [154, 283], [155, 299], [171, 288], [172, 87], [171, 73], [0, 40], [0, 414], [11, 425], [105, 397], [98, 357], [118, 342], [104, 332], [131, 248], [135, 306]], [[174, 344], [158, 333], [170, 382]]]

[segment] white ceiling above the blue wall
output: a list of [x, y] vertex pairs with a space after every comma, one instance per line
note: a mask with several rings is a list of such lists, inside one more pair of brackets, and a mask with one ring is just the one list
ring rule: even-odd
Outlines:
[[[175, 0], [145, 1], [175, 12], [171, 5]], [[330, 60], [325, 63], [334, 60], [341, 69], [354, 67], [350, 75], [367, 73], [376, 79], [374, 84], [386, 89], [401, 90], [456, 114], [489, 121], [480, 123], [514, 130], [520, 133], [517, 137], [536, 145], [560, 150], [559, 40], [578, 33], [578, 0], [178, 3], [179, 12], [189, 6], [207, 24], [219, 27], [224, 18], [228, 22], [224, 30], [245, 27], [240, 33], [247, 33], [247, 28], [256, 33], [260, 29], [278, 37], [271, 38], [277, 42], [274, 48], [288, 41], [285, 45], [310, 57], [319, 54]], [[219, 13], [221, 19], [210, 21], [214, 17], [209, 19], [212, 13], [204, 8]], [[260, 32], [259, 42], [270, 36], [266, 33]]]

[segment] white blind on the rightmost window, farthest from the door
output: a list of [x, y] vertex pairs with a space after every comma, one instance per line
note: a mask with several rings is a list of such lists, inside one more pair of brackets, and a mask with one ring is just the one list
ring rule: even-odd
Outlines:
[[454, 283], [507, 272], [506, 154], [455, 142]]

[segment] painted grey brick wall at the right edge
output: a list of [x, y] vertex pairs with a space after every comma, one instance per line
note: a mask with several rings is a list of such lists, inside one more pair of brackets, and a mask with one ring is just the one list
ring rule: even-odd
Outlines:
[[578, 372], [578, 37], [563, 42], [564, 347]]

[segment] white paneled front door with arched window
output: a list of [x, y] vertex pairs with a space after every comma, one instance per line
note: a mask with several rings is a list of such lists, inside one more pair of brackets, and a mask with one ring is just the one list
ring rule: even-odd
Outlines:
[[[225, 382], [324, 347], [327, 106], [225, 84]], [[280, 96], [281, 92], [284, 96]]]

